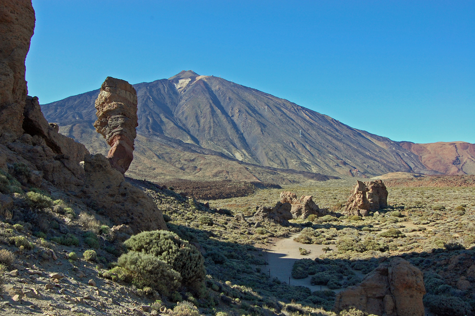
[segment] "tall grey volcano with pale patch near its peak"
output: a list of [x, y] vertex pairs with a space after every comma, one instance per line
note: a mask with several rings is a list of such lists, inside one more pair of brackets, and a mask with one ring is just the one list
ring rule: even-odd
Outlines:
[[[330, 116], [223, 78], [199, 76], [189, 70], [134, 87], [138, 134], [178, 151], [333, 175], [440, 173], [424, 165], [420, 155], [407, 145], [412, 143], [400, 144], [354, 129]], [[76, 132], [91, 129], [96, 96], [97, 91], [71, 96], [42, 105], [42, 110], [49, 122], [76, 126], [71, 127]], [[78, 140], [82, 137], [68, 134]]]

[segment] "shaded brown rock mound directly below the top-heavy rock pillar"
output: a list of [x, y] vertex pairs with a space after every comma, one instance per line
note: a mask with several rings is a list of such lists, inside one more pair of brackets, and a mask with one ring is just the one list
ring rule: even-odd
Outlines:
[[82, 197], [102, 210], [115, 225], [129, 225], [134, 233], [167, 230], [161, 211], [152, 198], [127, 182], [102, 154], [86, 155]]

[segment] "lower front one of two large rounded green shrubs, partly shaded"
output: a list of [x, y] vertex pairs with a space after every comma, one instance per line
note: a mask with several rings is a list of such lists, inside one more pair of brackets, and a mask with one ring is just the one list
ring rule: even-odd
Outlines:
[[120, 256], [117, 263], [135, 274], [133, 283], [139, 287], [153, 287], [165, 295], [180, 287], [180, 273], [152, 254], [129, 251]]

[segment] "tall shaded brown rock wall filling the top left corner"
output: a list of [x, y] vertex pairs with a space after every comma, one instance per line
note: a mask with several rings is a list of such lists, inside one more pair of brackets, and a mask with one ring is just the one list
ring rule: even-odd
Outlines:
[[0, 4], [0, 144], [18, 139], [23, 132], [27, 98], [25, 59], [35, 29], [35, 10], [28, 0]]

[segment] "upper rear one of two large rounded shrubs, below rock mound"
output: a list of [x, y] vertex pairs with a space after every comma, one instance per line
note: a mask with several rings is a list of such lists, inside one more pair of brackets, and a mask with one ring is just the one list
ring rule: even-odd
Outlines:
[[201, 253], [171, 231], [144, 231], [125, 240], [124, 245], [129, 250], [151, 254], [170, 264], [180, 273], [186, 286], [199, 286], [197, 283], [204, 280], [204, 259]]

